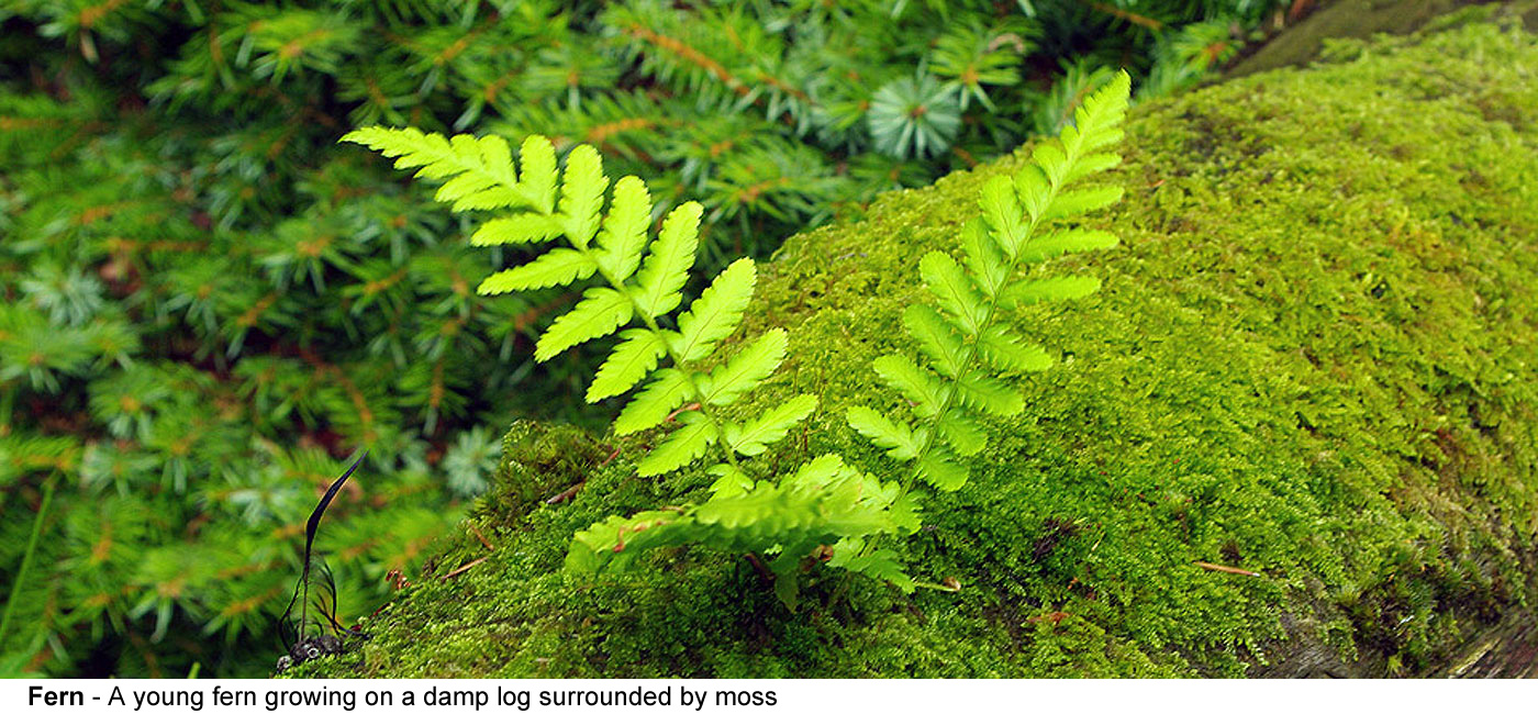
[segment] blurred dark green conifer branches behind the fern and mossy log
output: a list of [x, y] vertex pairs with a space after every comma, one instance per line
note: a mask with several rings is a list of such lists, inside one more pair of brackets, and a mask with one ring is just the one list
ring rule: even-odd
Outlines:
[[[315, 500], [343, 622], [412, 577], [517, 417], [601, 426], [534, 365], [560, 292], [355, 126], [551, 135], [706, 206], [698, 266], [767, 255], [1140, 98], [1286, 25], [1280, 0], [0, 5], [0, 674], [265, 676]], [[1303, 3], [1307, 5], [1307, 3]]]

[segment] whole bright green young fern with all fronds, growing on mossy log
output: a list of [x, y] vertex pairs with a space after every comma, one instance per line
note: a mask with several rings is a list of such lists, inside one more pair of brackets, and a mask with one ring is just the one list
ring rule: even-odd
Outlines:
[[[914, 463], [914, 475], [901, 485], [883, 485], [837, 455], [815, 459], [781, 483], [754, 480], [741, 468], [740, 455], [763, 454], [811, 415], [817, 399], [795, 395], [740, 423], [718, 415], [718, 408], [752, 392], [780, 366], [787, 339], [784, 331], [772, 329], [726, 359], [717, 355], [752, 300], [757, 266], [751, 259], [731, 263], [675, 315], [698, 251], [698, 203], [669, 211], [649, 240], [646, 185], [635, 177], [614, 183], [604, 214], [609, 178], [598, 152], [586, 145], [571, 151], [557, 178], [555, 149], [543, 137], [523, 143], [521, 171], [508, 143], [497, 137], [444, 138], [415, 129], [371, 128], [345, 140], [395, 157], [397, 168], [415, 168], [418, 177], [443, 180], [437, 199], [458, 211], [512, 211], [483, 223], [472, 237], [475, 245], [564, 239], [564, 246], [488, 277], [481, 294], [601, 279], [604, 285], [588, 288], [581, 302], [540, 335], [535, 359], [544, 362], [620, 334], [588, 388], [588, 400], [621, 395], [640, 385], [615, 419], [615, 434], [675, 425], [637, 463], [640, 475], [689, 466], [712, 446], [724, 457], [707, 469], [717, 477], [709, 500], [595, 523], [575, 534], [566, 568], [589, 574], [623, 568], [652, 548], [684, 543], [746, 552], [758, 563], [758, 554], [772, 552], [777, 557], [766, 568], [775, 594], [794, 609], [801, 562], [818, 549], [829, 556], [831, 566], [891, 582], [904, 592], [914, 589], [897, 556], [877, 548], [877, 542], [918, 528], [907, 497], [914, 479], [941, 491], [961, 488], [967, 471], [960, 459], [987, 445], [981, 419], [1023, 409], [1018, 391], [998, 374], [1050, 365], [1043, 348], [1021, 342], [1007, 325], [995, 322], [998, 311], [1083, 297], [1098, 288], [1094, 279], [1020, 280], [1015, 272], [1024, 263], [1115, 245], [1115, 237], [1095, 231], [1037, 232], [1120, 199], [1117, 188], [1067, 186], [1120, 160], [1100, 149], [1120, 138], [1127, 89], [1123, 74], [1078, 108], [1077, 123], [1060, 140], [1038, 146], [1034, 163], [1014, 180], [995, 178], [984, 186], [983, 215], [963, 234], [964, 265], [943, 252], [920, 262], [935, 306], [910, 306], [903, 325], [927, 366], [901, 354], [883, 355], [872, 365], [912, 403], [917, 422], [892, 420], [866, 406], [847, 412], [849, 425], [891, 457]], [[672, 328], [664, 326], [669, 320]], [[715, 366], [703, 369], [709, 363]]]

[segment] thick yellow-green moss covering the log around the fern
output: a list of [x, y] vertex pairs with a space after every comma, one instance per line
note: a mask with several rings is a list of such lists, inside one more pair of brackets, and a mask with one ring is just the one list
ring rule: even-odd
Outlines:
[[[752, 568], [698, 548], [571, 579], [575, 529], [697, 499], [706, 477], [640, 480], [643, 442], [520, 426], [466, 532], [366, 623], [371, 640], [301, 674], [1450, 665], [1535, 594], [1533, 71], [1530, 35], [1469, 25], [1137, 108], [1114, 175], [1127, 200], [1097, 222], [1124, 245], [1044, 268], [1104, 289], [1014, 315], [1060, 365], [1021, 382], [1026, 415], [997, 425], [970, 483], [929, 499], [900, 545], [957, 594], [812, 572], [792, 614]], [[760, 463], [840, 452], [889, 469], [843, 409], [898, 406], [867, 365], [909, 349], [897, 315], [920, 299], [914, 265], [955, 249], [983, 180], [1018, 162], [883, 197], [766, 266], [749, 334], [787, 326], [792, 355], [760, 399], [809, 391], [823, 408]]]

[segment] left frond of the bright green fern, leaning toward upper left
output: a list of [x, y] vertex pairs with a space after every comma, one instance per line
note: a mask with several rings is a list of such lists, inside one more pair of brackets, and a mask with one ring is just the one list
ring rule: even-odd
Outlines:
[[[417, 177], [441, 180], [435, 197], [455, 211], [512, 209], [511, 215], [484, 222], [471, 237], [475, 245], [564, 239], [566, 246], [492, 274], [481, 282], [481, 294], [601, 279], [604, 285], [588, 288], [581, 302], [540, 335], [534, 357], [546, 362], [620, 332], [618, 345], [588, 386], [588, 402], [621, 395], [644, 383], [620, 411], [615, 432], [632, 434], [667, 422], [678, 425], [637, 465], [641, 475], [684, 468], [711, 446], [718, 446], [724, 463], [735, 468], [738, 455], [760, 454], [815, 406], [814, 397], [798, 395], [747, 423], [717, 414], [780, 366], [786, 335], [769, 331], [715, 369], [700, 368], [717, 357], [720, 343], [741, 323], [758, 269], [751, 259], [737, 260], [689, 309], [674, 317], [683, 305], [683, 286], [700, 245], [703, 209], [698, 203], [669, 211], [661, 231], [649, 240], [652, 202], [646, 183], [628, 175], [609, 191], [603, 160], [586, 145], [571, 151], [564, 172], [557, 177], [555, 148], [544, 137], [523, 142], [521, 166], [514, 163], [508, 142], [494, 135], [446, 138], [375, 126], [354, 131], [343, 140], [394, 157], [397, 168], [414, 168]], [[606, 192], [608, 212], [603, 211]], [[675, 328], [666, 328], [667, 320]], [[669, 366], [663, 366], [664, 360]]]

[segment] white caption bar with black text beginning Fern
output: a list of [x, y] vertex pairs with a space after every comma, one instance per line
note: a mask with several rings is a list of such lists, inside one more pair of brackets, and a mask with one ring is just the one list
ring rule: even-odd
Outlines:
[[11, 712], [1458, 712], [1533, 682], [1461, 680], [12, 680]]

